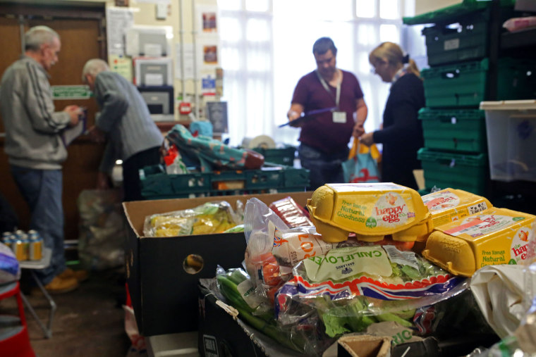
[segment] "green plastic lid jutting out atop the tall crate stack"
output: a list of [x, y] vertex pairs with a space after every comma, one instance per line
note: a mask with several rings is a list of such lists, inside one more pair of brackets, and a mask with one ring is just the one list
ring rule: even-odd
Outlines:
[[[492, 5], [493, 0], [463, 0], [461, 4], [447, 6], [436, 11], [422, 13], [413, 17], [402, 18], [405, 25], [420, 25], [427, 23], [452, 23], [461, 16], [471, 15], [475, 11], [482, 11]], [[500, 0], [501, 7], [511, 7], [516, 4], [516, 0]]]

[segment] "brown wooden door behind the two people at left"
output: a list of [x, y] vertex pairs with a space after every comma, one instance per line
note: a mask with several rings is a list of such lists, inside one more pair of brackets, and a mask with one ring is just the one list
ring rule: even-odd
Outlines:
[[[15, 15], [10, 14], [15, 13]], [[2, 14], [8, 14], [8, 18]], [[82, 69], [90, 58], [105, 58], [105, 43], [102, 20], [104, 7], [73, 8], [68, 11], [54, 6], [8, 6], [0, 4], [0, 70], [4, 70], [16, 61], [21, 53], [20, 23], [24, 31], [36, 25], [47, 25], [58, 32], [61, 39], [59, 62], [50, 70], [50, 84], [78, 85], [82, 82]], [[6, 30], [6, 32], [4, 32]], [[4, 33], [8, 34], [4, 36]], [[5, 43], [4, 43], [5, 42]], [[56, 111], [65, 106], [76, 104], [87, 107], [88, 126], [95, 124], [97, 104], [94, 99], [56, 100]], [[1, 121], [1, 118], [0, 118]], [[0, 125], [0, 132], [4, 132]], [[4, 154], [3, 138], [0, 137], [0, 192], [13, 205], [20, 220], [20, 227], [28, 229], [30, 213], [22, 196], [16, 189], [8, 170]], [[63, 164], [63, 210], [65, 220], [65, 239], [78, 239], [77, 199], [83, 189], [95, 188], [97, 169], [104, 151], [102, 144], [90, 142], [87, 137], [76, 139], [68, 148], [68, 158]]]

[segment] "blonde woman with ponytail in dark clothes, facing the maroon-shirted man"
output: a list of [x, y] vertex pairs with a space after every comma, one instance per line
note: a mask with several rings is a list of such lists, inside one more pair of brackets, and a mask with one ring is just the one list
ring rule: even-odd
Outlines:
[[425, 106], [425, 91], [415, 61], [398, 44], [384, 42], [369, 55], [374, 73], [391, 91], [384, 108], [381, 130], [360, 137], [365, 145], [383, 144], [382, 181], [418, 189], [413, 170], [420, 168], [417, 151], [424, 143], [418, 111]]

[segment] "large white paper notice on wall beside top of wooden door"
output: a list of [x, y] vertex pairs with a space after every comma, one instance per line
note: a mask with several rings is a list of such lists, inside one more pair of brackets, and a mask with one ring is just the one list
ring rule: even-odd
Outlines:
[[125, 55], [125, 33], [134, 25], [131, 8], [106, 8], [106, 39], [108, 55]]

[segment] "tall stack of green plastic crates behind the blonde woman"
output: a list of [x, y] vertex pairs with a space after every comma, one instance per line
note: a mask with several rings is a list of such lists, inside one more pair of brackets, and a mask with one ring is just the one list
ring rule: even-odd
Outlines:
[[[514, 0], [499, 2], [499, 21], [515, 17]], [[489, 182], [485, 112], [480, 101], [535, 97], [536, 62], [498, 58], [490, 68], [493, 1], [464, 0], [413, 18], [406, 25], [433, 24], [422, 30], [428, 64], [421, 76], [426, 107], [419, 112], [425, 147], [418, 152], [425, 190], [463, 189], [486, 195]], [[497, 98], [488, 78], [497, 70]], [[530, 74], [529, 74], [530, 73]]]

